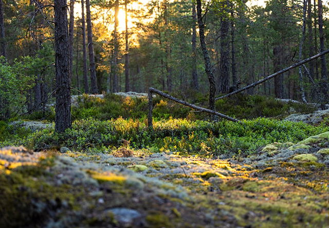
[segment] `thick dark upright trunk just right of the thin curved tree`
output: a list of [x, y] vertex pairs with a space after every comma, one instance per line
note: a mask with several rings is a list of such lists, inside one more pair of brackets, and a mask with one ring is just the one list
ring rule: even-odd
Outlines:
[[228, 40], [229, 22], [227, 18], [221, 18], [221, 60], [220, 74], [218, 77], [219, 92], [227, 93], [230, 89], [229, 53], [230, 45]]

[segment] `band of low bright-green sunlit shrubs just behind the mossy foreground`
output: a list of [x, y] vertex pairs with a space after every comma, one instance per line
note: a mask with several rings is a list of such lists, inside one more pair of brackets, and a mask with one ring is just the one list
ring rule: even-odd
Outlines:
[[149, 148], [151, 152], [171, 151], [211, 157], [254, 153], [269, 143], [296, 143], [327, 130], [327, 126], [266, 118], [245, 120], [243, 124], [169, 119], [154, 121], [153, 131], [148, 129], [145, 121], [134, 119], [86, 119], [75, 121], [64, 134], [45, 129], [26, 137], [7, 139], [0, 142], [0, 146], [23, 144], [36, 150], [66, 146], [74, 150], [105, 152], [122, 146], [122, 139], [125, 139], [131, 149]]

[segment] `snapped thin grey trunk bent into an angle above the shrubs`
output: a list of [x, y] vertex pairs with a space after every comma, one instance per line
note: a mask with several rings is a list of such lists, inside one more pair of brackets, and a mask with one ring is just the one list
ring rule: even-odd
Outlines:
[[167, 94], [167, 93], [164, 93], [160, 90], [157, 90], [155, 88], [152, 88], [150, 87], [149, 88], [149, 93], [148, 93], [148, 97], [149, 97], [149, 115], [148, 115], [148, 122], [149, 122], [149, 128], [153, 129], [153, 118], [152, 118], [152, 111], [153, 111], [153, 97], [152, 97], [152, 93], [156, 93], [162, 97], [165, 97], [169, 100], [172, 100], [176, 103], [179, 103], [179, 104], [182, 104], [182, 105], [185, 105], [185, 106], [188, 106], [190, 108], [193, 108], [193, 109], [196, 109], [196, 110], [199, 110], [199, 111], [204, 111], [204, 112], [208, 112], [212, 115], [215, 115], [215, 116], [218, 116], [218, 117], [222, 117], [224, 119], [227, 119], [227, 120], [230, 120], [230, 121], [233, 121], [233, 122], [239, 122], [239, 123], [242, 123], [240, 120], [236, 120], [232, 117], [229, 117], [229, 116], [226, 116], [220, 112], [217, 112], [217, 111], [213, 111], [213, 110], [210, 110], [210, 109], [207, 109], [207, 108], [203, 108], [203, 107], [199, 107], [199, 106], [196, 106], [196, 105], [193, 105], [193, 104], [190, 104], [186, 101], [182, 101], [182, 100], [179, 100], [177, 98], [174, 98], [173, 96]]

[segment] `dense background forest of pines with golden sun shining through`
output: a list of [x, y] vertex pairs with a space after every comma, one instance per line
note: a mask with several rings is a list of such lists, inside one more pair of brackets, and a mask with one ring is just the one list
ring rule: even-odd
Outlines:
[[[202, 3], [216, 94], [243, 87], [327, 45], [324, 1]], [[54, 83], [52, 1], [1, 0], [1, 119], [45, 108]], [[69, 1], [72, 94], [145, 92], [155, 87], [197, 101], [209, 91], [194, 1]], [[82, 10], [83, 9], [83, 10]], [[83, 14], [82, 14], [83, 12]], [[323, 29], [324, 28], [324, 29]], [[323, 62], [324, 61], [324, 62]], [[320, 102], [325, 58], [248, 94]], [[5, 108], [6, 107], [6, 108]], [[17, 107], [22, 107], [20, 110]]]

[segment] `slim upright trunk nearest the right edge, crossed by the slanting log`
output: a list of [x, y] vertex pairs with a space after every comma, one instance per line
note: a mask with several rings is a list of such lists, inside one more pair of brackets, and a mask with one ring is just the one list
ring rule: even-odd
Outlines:
[[[324, 32], [323, 32], [323, 17], [322, 17], [322, 0], [318, 0], [319, 8], [319, 36], [320, 36], [320, 52], [324, 51]], [[321, 85], [322, 88], [322, 98], [321, 103], [327, 102], [327, 93], [328, 93], [328, 77], [327, 77], [327, 66], [325, 61], [325, 56], [321, 56]]]

